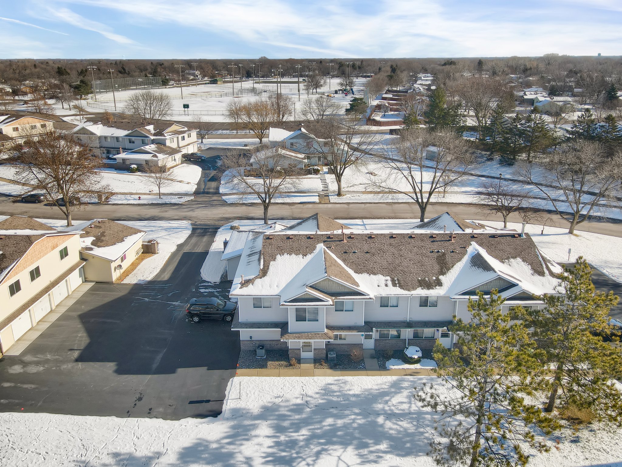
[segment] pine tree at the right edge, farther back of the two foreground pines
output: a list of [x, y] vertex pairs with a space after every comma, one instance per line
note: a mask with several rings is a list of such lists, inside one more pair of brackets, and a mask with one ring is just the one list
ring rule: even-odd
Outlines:
[[[543, 295], [544, 309], [518, 309], [519, 318], [534, 328], [533, 339], [545, 352], [544, 363], [554, 369], [545, 380], [549, 392], [546, 412], [591, 412], [598, 420], [622, 422], [622, 394], [611, 381], [622, 366], [620, 348], [603, 342], [611, 333], [609, 313], [618, 303], [613, 292], [597, 292], [587, 261], [577, 258], [561, 276], [563, 295]], [[543, 385], [541, 384], [541, 387]]]

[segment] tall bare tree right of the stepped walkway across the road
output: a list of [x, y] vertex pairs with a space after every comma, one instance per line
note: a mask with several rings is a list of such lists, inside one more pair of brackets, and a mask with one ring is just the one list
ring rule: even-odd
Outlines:
[[343, 196], [343, 177], [350, 167], [363, 161], [376, 144], [374, 134], [356, 124], [358, 117], [331, 117], [318, 125], [317, 152], [328, 161], [335, 181], [337, 196]]

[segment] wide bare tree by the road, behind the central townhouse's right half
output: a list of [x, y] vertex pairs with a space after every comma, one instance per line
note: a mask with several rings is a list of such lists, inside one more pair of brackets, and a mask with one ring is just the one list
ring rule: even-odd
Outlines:
[[411, 198], [424, 222], [425, 210], [435, 194], [462, 178], [474, 156], [468, 142], [452, 131], [414, 127], [376, 160], [389, 169], [389, 176], [371, 177], [370, 186]]

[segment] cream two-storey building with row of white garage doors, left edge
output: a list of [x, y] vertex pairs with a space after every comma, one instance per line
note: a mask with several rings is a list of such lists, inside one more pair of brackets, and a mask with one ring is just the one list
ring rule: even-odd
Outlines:
[[0, 354], [83, 283], [80, 233], [19, 215], [0, 221]]

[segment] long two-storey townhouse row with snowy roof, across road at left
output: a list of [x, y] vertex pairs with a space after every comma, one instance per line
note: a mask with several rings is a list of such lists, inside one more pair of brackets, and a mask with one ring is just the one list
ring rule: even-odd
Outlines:
[[73, 131], [78, 141], [98, 149], [101, 155], [121, 154], [151, 144], [162, 144], [179, 149], [180, 153], [197, 151], [197, 130], [177, 123], [158, 122], [152, 125], [114, 121], [93, 123], [87, 121]]

